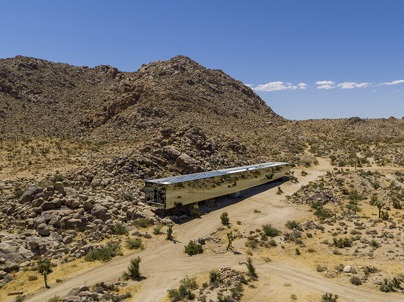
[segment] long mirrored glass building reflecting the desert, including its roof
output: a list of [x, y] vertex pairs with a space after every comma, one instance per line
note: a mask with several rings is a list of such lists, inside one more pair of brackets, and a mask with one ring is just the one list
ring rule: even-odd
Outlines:
[[287, 163], [208, 171], [146, 181], [146, 201], [165, 208], [240, 192], [288, 176]]

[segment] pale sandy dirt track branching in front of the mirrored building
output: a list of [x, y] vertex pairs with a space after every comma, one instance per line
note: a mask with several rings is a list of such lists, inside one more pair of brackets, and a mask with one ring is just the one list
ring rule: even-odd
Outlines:
[[[319, 161], [320, 165], [305, 169], [309, 175], [299, 177], [300, 182], [298, 184], [290, 182], [283, 184], [284, 195], [292, 194], [302, 184], [307, 184], [324, 174], [326, 170], [330, 170], [326, 160], [319, 159]], [[264, 223], [271, 223], [276, 227], [283, 228], [287, 220], [299, 219], [307, 214], [303, 210], [306, 209], [305, 206], [286, 204], [281, 201], [284, 199], [284, 195], [276, 195], [276, 190], [264, 191], [263, 189], [266, 188], [251, 189], [242, 201], [223, 200], [221, 202], [222, 206], [226, 206], [231, 222], [241, 220], [243, 226], [247, 227], [258, 227]], [[255, 208], [261, 210], [260, 215], [257, 216], [253, 213]], [[202, 215], [200, 219], [175, 225], [173, 234], [178, 241], [172, 242], [157, 238], [148, 240], [143, 251], [115, 258], [105, 265], [74, 276], [63, 283], [55, 284], [50, 289], [37, 292], [25, 301], [45, 301], [54, 295], [64, 296], [73, 287], [83, 285], [84, 281], [86, 284], [94, 284], [100, 280], [116, 280], [134, 256], [142, 258], [141, 270], [146, 276], [146, 280], [143, 281], [142, 292], [135, 299], [141, 302], [161, 301], [167, 289], [175, 286], [185, 275], [201, 274], [213, 268], [226, 266], [240, 269], [238, 261], [244, 260], [245, 255], [236, 255], [229, 251], [220, 255], [202, 254], [189, 257], [183, 253], [184, 245], [189, 240], [205, 236], [220, 226], [219, 216], [222, 212], [223, 209], [216, 209]], [[338, 294], [344, 301], [404, 301], [395, 295], [372, 292], [353, 285], [342, 285], [295, 268], [267, 264], [260, 259], [254, 259], [254, 264], [258, 274], [280, 276], [322, 293], [332, 292]]]

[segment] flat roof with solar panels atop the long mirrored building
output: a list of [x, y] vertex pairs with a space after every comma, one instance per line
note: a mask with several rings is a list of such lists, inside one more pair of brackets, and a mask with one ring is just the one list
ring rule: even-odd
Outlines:
[[287, 164], [287, 163], [271, 162], [271, 163], [264, 163], [264, 164], [258, 164], [258, 165], [250, 165], [250, 166], [243, 166], [243, 167], [236, 167], [236, 168], [227, 168], [227, 169], [220, 169], [220, 170], [214, 170], [214, 171], [206, 171], [206, 172], [201, 172], [201, 173], [193, 173], [193, 174], [188, 174], [188, 175], [178, 175], [178, 176], [159, 178], [159, 179], [153, 179], [153, 180], [147, 180], [147, 181], [154, 182], [154, 183], [161, 183], [161, 184], [170, 184], [170, 183], [177, 183], [177, 182], [184, 182], [184, 181], [202, 179], [202, 178], [207, 178], [207, 177], [213, 177], [213, 176], [218, 176], [218, 175], [232, 174], [232, 173], [237, 173], [237, 172], [241, 172], [241, 171], [245, 171], [245, 170], [255, 170], [255, 169], [268, 168], [268, 167], [275, 167], [275, 166], [280, 166], [280, 165], [285, 165], [285, 164]]

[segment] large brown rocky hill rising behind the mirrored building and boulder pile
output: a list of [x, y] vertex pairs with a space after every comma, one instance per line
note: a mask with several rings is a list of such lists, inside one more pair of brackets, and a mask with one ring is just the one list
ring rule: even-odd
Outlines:
[[[230, 130], [283, 121], [249, 87], [184, 56], [135, 72], [17, 56], [0, 60], [3, 136], [149, 139], [162, 126]], [[214, 131], [216, 132], [216, 130]]]

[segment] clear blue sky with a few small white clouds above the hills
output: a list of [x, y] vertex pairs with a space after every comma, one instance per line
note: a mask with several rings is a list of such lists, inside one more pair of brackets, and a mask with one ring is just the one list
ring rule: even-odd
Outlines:
[[285, 118], [404, 116], [401, 0], [1, 2], [0, 58], [133, 71], [185, 55]]

